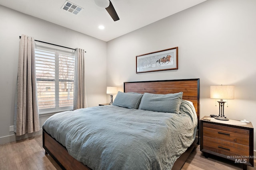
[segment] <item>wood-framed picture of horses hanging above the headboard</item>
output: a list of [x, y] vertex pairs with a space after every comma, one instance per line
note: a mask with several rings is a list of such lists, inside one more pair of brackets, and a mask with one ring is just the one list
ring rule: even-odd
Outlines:
[[178, 47], [136, 56], [136, 73], [178, 69]]

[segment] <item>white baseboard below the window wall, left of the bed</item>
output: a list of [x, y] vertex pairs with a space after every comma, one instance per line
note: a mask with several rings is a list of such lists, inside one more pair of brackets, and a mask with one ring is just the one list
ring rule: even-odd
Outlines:
[[43, 129], [40, 129], [38, 132], [26, 133], [26, 134], [21, 135], [21, 136], [16, 136], [15, 134], [13, 134], [13, 135], [0, 137], [0, 145], [2, 145], [4, 143], [19, 141], [21, 139], [26, 139], [26, 138], [29, 138], [29, 137], [34, 137], [34, 136], [37, 136], [37, 135], [42, 135], [42, 133], [43, 133]]

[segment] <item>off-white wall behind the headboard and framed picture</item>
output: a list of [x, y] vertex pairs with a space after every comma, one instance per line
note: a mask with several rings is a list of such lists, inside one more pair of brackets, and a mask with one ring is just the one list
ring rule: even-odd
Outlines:
[[[208, 0], [108, 41], [107, 85], [122, 91], [126, 81], [200, 78], [201, 118], [218, 113], [210, 86], [234, 85], [225, 115], [256, 127], [255, 6], [255, 0]], [[136, 55], [172, 47], [178, 70], [136, 74]], [[254, 148], [255, 137], [254, 131]]]

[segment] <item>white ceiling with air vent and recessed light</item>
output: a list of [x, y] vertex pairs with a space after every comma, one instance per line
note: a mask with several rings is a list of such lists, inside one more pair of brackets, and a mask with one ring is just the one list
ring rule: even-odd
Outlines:
[[[206, 0], [111, 0], [120, 18], [118, 21], [113, 21], [94, 0], [69, 1], [83, 10], [77, 15], [62, 10], [66, 0], [0, 0], [0, 5], [110, 41]], [[98, 29], [99, 25], [104, 25], [105, 29]]]

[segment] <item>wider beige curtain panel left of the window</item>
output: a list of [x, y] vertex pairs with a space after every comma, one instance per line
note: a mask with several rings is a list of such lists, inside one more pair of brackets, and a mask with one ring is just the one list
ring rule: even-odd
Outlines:
[[16, 100], [17, 109], [14, 115], [16, 135], [39, 131], [35, 43], [33, 37], [26, 35], [20, 38]]

